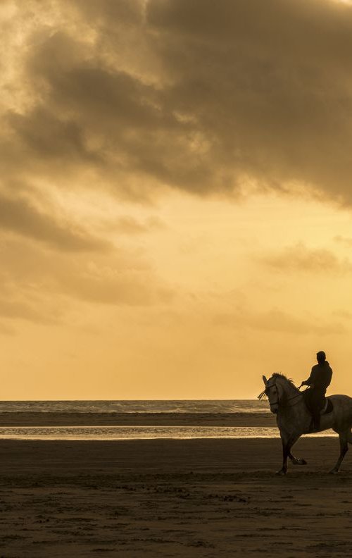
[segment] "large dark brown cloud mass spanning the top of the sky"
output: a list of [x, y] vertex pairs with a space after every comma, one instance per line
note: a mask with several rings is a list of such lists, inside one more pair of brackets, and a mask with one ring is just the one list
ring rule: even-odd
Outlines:
[[26, 21], [7, 175], [141, 200], [251, 182], [352, 202], [351, 6], [61, 0]]

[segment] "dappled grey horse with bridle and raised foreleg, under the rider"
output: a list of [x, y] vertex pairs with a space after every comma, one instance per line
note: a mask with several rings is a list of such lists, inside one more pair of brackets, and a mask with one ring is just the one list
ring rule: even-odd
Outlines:
[[[291, 454], [291, 447], [302, 434], [313, 431], [312, 416], [303, 399], [303, 392], [298, 390], [292, 380], [284, 374], [275, 373], [267, 380], [263, 376], [265, 390], [258, 395], [258, 399], [268, 397], [270, 411], [277, 416], [277, 427], [282, 440], [283, 462], [282, 469], [277, 471], [278, 475], [287, 473], [287, 457], [294, 465], [306, 465], [307, 461]], [[337, 463], [331, 471], [332, 474], [339, 473], [341, 463], [348, 451], [348, 443], [352, 444], [352, 397], [348, 395], [331, 395], [332, 411], [320, 416], [320, 429], [332, 428], [339, 434], [340, 454]], [[317, 431], [317, 430], [314, 430]]]

